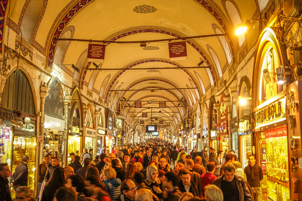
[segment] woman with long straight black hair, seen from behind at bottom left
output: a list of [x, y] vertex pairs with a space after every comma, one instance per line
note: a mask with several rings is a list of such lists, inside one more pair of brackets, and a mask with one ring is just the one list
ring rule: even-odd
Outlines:
[[65, 170], [62, 167], [56, 167], [53, 170], [53, 174], [50, 180], [46, 184], [43, 190], [41, 201], [52, 201], [53, 195], [59, 187], [66, 184], [65, 181]]

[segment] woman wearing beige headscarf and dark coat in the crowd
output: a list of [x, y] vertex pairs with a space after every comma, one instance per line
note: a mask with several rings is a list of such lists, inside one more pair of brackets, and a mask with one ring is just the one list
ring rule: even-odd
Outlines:
[[159, 198], [162, 199], [163, 185], [158, 178], [158, 169], [155, 165], [149, 165], [146, 168], [146, 179], [145, 184], [151, 188], [152, 192]]

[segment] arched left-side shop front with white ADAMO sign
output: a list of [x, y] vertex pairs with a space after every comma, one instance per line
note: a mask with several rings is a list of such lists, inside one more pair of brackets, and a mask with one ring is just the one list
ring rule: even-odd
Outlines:
[[61, 162], [64, 156], [65, 128], [63, 90], [56, 77], [50, 79], [47, 87], [50, 90], [44, 105], [43, 157], [53, 152]]

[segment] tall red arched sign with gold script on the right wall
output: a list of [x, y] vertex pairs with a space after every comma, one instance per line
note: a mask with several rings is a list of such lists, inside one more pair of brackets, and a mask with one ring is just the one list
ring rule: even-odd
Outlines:
[[222, 94], [219, 108], [219, 123], [217, 124], [217, 136], [228, 135], [228, 108], [225, 103], [225, 94]]

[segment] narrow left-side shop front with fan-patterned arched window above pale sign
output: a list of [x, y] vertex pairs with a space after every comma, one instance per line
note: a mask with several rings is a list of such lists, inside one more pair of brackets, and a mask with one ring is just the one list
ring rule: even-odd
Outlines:
[[85, 117], [84, 117], [84, 133], [85, 133], [85, 144], [86, 149], [93, 149], [92, 158], [95, 158], [95, 144], [96, 144], [96, 135], [95, 135], [95, 121], [92, 113], [93, 109], [91, 105], [87, 105]]

